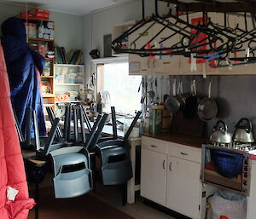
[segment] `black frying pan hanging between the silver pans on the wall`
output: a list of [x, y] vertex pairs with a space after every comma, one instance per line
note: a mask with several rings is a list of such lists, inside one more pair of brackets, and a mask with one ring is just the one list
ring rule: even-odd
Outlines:
[[191, 82], [191, 95], [186, 99], [183, 108], [183, 115], [185, 118], [193, 118], [197, 113], [198, 98], [196, 96], [195, 79]]

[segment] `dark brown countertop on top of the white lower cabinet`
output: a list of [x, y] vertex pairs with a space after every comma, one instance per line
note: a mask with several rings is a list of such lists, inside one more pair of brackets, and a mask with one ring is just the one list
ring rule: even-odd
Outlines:
[[148, 135], [148, 134], [143, 134], [143, 135], [152, 137], [155, 139], [159, 139], [162, 141], [171, 141], [173, 143], [177, 143], [177, 144], [181, 144], [189, 147], [198, 147], [198, 148], [201, 148], [202, 144], [205, 144], [208, 142], [208, 139], [205, 137], [178, 135], [178, 134], [172, 134], [168, 132], [163, 132], [158, 135]]

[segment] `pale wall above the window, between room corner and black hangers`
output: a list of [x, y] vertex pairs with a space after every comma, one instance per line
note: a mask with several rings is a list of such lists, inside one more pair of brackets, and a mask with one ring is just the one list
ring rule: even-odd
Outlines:
[[[154, 0], [145, 1], [145, 14], [154, 13]], [[166, 14], [169, 9], [166, 3], [159, 3], [160, 13]], [[102, 9], [83, 17], [83, 49], [86, 65], [86, 81], [90, 76], [90, 50], [99, 49], [101, 57], [104, 53], [103, 36], [112, 33], [113, 26], [130, 20], [142, 20], [142, 0], [121, 4], [109, 9]]]

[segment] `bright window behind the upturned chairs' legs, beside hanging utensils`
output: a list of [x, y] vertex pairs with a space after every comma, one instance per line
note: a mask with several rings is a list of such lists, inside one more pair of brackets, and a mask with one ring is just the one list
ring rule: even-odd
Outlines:
[[97, 93], [103, 94], [103, 112], [110, 112], [111, 106], [121, 114], [133, 114], [141, 110], [142, 93], [138, 92], [141, 81], [142, 76], [129, 75], [128, 62], [98, 65]]

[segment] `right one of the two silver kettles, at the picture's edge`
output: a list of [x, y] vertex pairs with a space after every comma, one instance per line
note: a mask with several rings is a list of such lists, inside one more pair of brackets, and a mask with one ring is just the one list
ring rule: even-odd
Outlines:
[[253, 143], [255, 141], [252, 123], [248, 118], [241, 118], [235, 127], [236, 130], [233, 134], [233, 141], [241, 143]]

